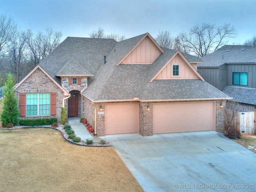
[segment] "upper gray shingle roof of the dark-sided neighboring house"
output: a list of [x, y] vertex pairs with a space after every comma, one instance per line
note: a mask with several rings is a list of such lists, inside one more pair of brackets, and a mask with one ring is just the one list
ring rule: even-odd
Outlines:
[[198, 68], [218, 67], [230, 63], [256, 64], [256, 47], [225, 45], [215, 52], [202, 57], [202, 63], [198, 64]]

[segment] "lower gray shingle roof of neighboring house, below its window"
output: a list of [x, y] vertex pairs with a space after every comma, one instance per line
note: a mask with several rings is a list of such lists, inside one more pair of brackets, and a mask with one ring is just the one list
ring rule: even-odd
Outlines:
[[256, 88], [226, 86], [222, 91], [236, 102], [256, 105]]

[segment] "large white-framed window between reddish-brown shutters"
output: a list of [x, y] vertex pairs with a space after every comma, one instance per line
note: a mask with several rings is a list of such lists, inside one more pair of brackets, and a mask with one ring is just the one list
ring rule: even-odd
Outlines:
[[27, 116], [50, 115], [50, 93], [26, 94]]

